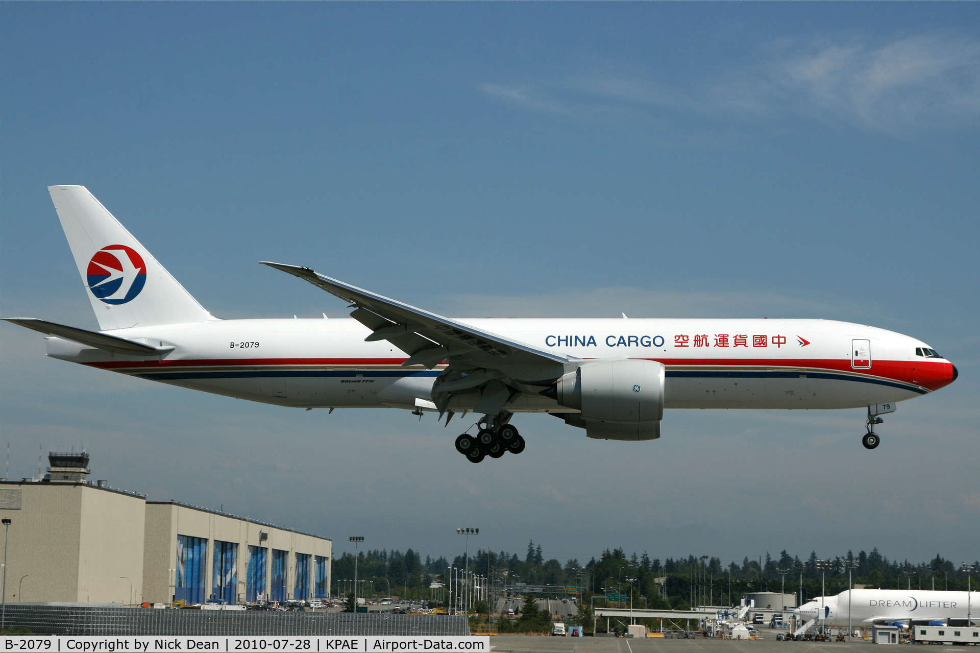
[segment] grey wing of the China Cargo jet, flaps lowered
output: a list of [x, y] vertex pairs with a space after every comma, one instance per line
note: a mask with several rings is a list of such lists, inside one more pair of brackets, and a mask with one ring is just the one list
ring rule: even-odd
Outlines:
[[491, 331], [465, 325], [435, 313], [319, 275], [310, 268], [261, 263], [310, 281], [331, 295], [349, 302], [351, 317], [371, 329], [366, 340], [387, 340], [409, 355], [403, 365], [432, 369], [455, 359], [463, 367], [503, 370], [515, 366], [540, 366], [569, 362], [567, 356], [539, 349]]

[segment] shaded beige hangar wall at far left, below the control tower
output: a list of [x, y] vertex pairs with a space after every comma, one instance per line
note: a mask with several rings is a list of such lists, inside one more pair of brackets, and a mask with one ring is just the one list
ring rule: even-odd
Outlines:
[[[21, 492], [21, 510], [0, 510], [10, 519], [7, 602], [77, 601], [80, 485], [0, 483]], [[0, 529], [0, 536], [3, 536]], [[21, 577], [29, 574], [21, 583]], [[24, 596], [18, 595], [24, 587]]]

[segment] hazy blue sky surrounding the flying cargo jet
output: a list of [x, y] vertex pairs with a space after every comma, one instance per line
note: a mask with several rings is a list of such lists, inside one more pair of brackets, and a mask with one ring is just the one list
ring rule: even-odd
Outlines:
[[[83, 370], [0, 327], [12, 477], [97, 477], [369, 546], [587, 559], [977, 557], [976, 3], [4, 3], [2, 313], [93, 327], [45, 186], [86, 185], [223, 318], [344, 317], [307, 265], [453, 316], [892, 328], [956, 383], [860, 411], [670, 411], [656, 442], [297, 411]], [[909, 532], [908, 525], [930, 528]], [[484, 537], [485, 534], [485, 537]], [[456, 538], [458, 539], [458, 538]]]

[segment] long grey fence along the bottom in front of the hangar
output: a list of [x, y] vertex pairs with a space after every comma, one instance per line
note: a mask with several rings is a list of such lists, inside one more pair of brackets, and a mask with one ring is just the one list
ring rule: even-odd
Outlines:
[[6, 628], [72, 635], [468, 635], [463, 616], [7, 605]]

